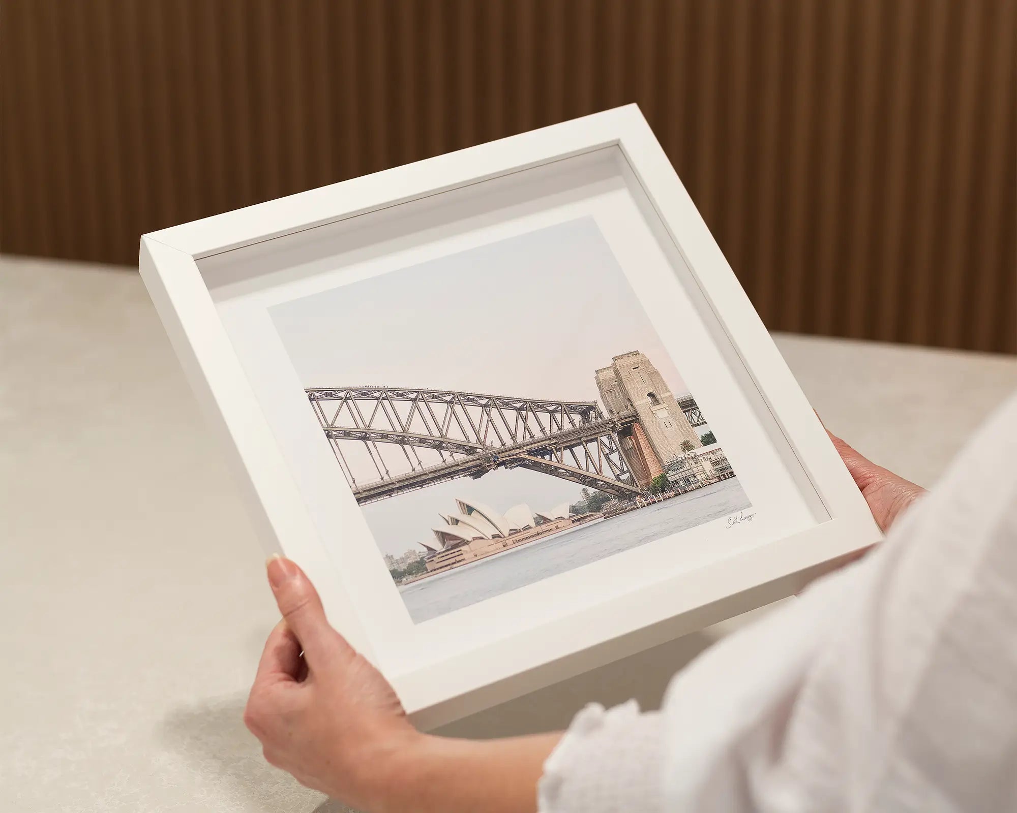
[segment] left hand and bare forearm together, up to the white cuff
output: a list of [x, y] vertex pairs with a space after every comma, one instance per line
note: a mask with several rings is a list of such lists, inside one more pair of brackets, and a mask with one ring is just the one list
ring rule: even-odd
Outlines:
[[268, 560], [283, 620], [244, 723], [264, 758], [308, 788], [376, 813], [532, 813], [559, 733], [503, 740], [420, 734], [388, 682], [328, 624], [310, 579]]

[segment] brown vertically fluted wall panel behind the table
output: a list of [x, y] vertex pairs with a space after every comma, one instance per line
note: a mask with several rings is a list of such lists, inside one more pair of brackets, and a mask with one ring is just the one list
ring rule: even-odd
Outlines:
[[1017, 349], [1014, 0], [3, 0], [0, 249], [638, 102], [766, 323]]

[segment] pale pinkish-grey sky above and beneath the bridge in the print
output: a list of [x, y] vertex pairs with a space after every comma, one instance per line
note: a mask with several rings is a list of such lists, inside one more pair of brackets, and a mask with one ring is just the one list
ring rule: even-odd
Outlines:
[[[277, 305], [271, 313], [307, 387], [382, 384], [599, 401], [595, 370], [638, 350], [675, 395], [687, 390], [592, 217]], [[354, 447], [343, 450], [350, 450], [358, 480], [376, 480], [373, 467], [361, 474], [370, 463]], [[390, 471], [408, 471], [399, 448], [387, 448]], [[441, 521], [439, 512], [455, 509], [458, 496], [497, 511], [520, 502], [539, 510], [575, 502], [580, 488], [522, 468], [499, 470], [363, 510], [381, 550], [399, 555], [433, 541], [429, 528]]]

